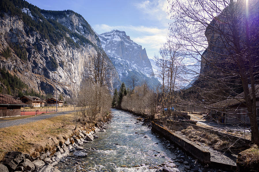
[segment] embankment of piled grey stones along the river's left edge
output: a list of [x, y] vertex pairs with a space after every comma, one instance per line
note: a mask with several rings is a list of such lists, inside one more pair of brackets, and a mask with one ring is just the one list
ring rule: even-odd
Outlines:
[[[0, 164], [1, 172], [60, 172], [53, 167], [59, 161], [65, 162], [66, 159], [86, 157], [89, 150], [83, 149], [81, 145], [88, 141], [92, 141], [96, 136], [96, 132], [104, 132], [106, 124], [111, 120], [109, 116], [105, 122], [98, 122], [90, 127], [81, 127], [74, 132], [71, 138], [60, 142], [51, 150], [41, 152], [40, 156], [32, 157], [22, 152], [8, 152]], [[72, 157], [68, 156], [73, 152]]]

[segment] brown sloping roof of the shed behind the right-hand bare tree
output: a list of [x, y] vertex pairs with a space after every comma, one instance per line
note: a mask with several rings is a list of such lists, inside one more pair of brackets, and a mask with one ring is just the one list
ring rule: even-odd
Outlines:
[[[259, 85], [255, 85], [255, 92], [256, 92], [256, 98], [258, 98], [259, 97]], [[252, 88], [249, 88], [249, 94], [250, 94], [250, 97], [252, 97]], [[245, 96], [245, 94], [244, 94], [244, 92], [242, 92], [233, 98], [228, 98], [228, 99], [219, 101], [217, 103], [213, 103], [213, 104], [211, 104], [211, 107], [222, 108], [222, 107], [230, 107], [233, 105], [237, 105], [241, 102], [245, 102], [244, 96]]]

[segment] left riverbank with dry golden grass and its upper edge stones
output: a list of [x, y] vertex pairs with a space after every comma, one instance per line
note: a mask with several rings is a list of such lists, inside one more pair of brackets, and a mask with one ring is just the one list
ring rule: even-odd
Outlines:
[[[47, 153], [47, 156], [50, 157], [51, 155], [53, 155], [53, 152], [55, 153], [57, 150], [59, 150], [60, 146], [63, 146], [63, 144], [66, 141], [68, 142], [68, 139], [76, 136], [77, 138], [79, 138], [78, 140], [80, 140], [83, 137], [82, 133], [84, 133], [84, 137], [89, 136], [89, 134], [92, 135], [92, 133], [96, 132], [98, 128], [100, 128], [105, 123], [109, 122], [111, 118], [112, 114], [109, 113], [99, 122], [79, 124], [77, 130], [73, 130], [73, 114], [66, 114], [62, 116], [56, 116], [53, 118], [47, 118], [44, 120], [31, 122], [24, 125], [1, 128], [1, 162], [3, 163], [3, 159], [7, 158], [5, 157], [5, 155], [7, 155], [7, 152], [12, 151], [19, 152], [18, 154], [16, 153], [17, 155], [15, 154], [14, 156], [25, 156], [26, 159], [32, 160], [41, 160], [40, 157], [45, 153]], [[71, 143], [72, 142], [73, 141], [71, 140]], [[82, 142], [82, 140], [80, 142]], [[10, 162], [12, 162], [12, 160], [14, 159], [15, 158], [10, 159]], [[19, 163], [21, 162], [22, 159]], [[14, 164], [18, 165], [17, 162]], [[8, 168], [10, 172], [10, 167]], [[15, 169], [11, 169], [11, 171], [14, 170]]]

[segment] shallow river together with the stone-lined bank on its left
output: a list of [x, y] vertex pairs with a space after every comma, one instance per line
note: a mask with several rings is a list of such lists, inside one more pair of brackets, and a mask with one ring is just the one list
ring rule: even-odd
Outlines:
[[58, 145], [55, 153], [43, 153], [37, 159], [19, 155], [4, 165], [10, 169], [10, 164], [15, 164], [12, 171], [40, 172], [223, 171], [201, 165], [180, 148], [154, 134], [147, 120], [121, 110], [112, 112], [111, 123], [93, 127], [91, 132], [80, 130]]

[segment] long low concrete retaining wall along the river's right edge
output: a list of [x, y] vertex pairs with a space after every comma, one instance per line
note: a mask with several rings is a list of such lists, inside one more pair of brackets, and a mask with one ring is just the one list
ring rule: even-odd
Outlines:
[[201, 161], [201, 163], [210, 163], [210, 152], [202, 148], [201, 146], [191, 142], [190, 140], [187, 140], [186, 138], [181, 137], [178, 134], [171, 133], [170, 131], [159, 126], [158, 124], [155, 124], [154, 122], [152, 122], [152, 131], [157, 132], [158, 134], [161, 134], [162, 136], [167, 138], [169, 141], [174, 142], [186, 152], [190, 153], [199, 161]]

